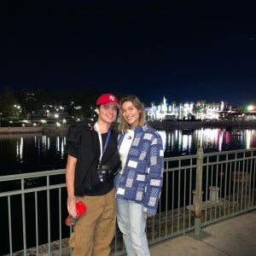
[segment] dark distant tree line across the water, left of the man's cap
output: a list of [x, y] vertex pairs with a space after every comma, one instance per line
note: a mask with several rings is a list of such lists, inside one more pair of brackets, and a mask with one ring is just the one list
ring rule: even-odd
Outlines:
[[0, 91], [0, 117], [11, 115], [15, 105], [20, 105], [22, 115], [39, 111], [45, 105], [52, 105], [64, 107], [69, 114], [73, 114], [74, 106], [80, 106], [76, 110], [77, 114], [90, 118], [91, 108], [96, 107], [96, 98], [105, 92], [95, 88], [14, 90], [6, 86]]

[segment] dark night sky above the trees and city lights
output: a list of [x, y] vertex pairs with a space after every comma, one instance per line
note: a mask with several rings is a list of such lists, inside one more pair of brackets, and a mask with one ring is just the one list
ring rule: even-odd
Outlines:
[[2, 88], [256, 102], [254, 1], [1, 1], [0, 32]]

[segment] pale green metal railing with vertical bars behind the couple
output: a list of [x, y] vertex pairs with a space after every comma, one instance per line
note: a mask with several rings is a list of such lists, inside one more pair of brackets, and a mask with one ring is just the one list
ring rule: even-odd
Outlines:
[[[166, 240], [256, 208], [256, 148], [165, 159], [158, 213], [148, 219], [148, 243]], [[0, 177], [1, 255], [71, 255], [65, 225], [65, 170]], [[16, 252], [16, 253], [15, 253]], [[112, 255], [125, 254], [117, 228]]]

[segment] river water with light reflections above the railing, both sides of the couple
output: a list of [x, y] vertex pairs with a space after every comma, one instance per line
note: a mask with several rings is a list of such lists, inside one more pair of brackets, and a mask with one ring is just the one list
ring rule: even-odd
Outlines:
[[[159, 131], [165, 156], [256, 147], [256, 130], [195, 129]], [[0, 175], [65, 168], [66, 134], [0, 135]]]

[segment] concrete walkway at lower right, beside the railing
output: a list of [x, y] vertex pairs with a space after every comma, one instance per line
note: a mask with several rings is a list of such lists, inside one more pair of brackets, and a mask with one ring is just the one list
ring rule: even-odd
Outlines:
[[151, 256], [255, 256], [256, 210], [150, 247]]

